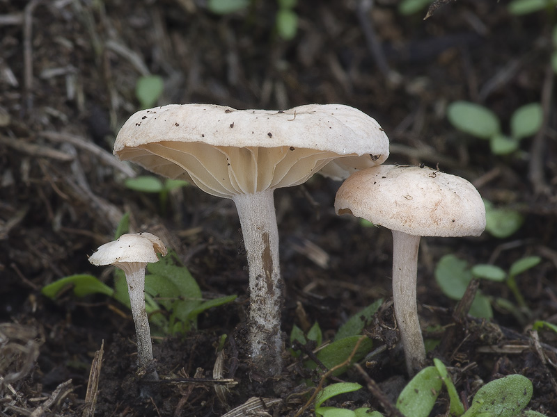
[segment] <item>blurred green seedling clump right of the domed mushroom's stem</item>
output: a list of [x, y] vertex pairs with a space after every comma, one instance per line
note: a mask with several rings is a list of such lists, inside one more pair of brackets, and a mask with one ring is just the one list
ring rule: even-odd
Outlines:
[[[441, 291], [453, 300], [460, 300], [462, 298], [464, 291], [466, 291], [466, 286], [468, 286], [473, 278], [505, 282], [512, 294], [515, 295], [517, 304], [519, 304], [523, 311], [527, 312], [528, 306], [517, 287], [516, 277], [522, 272], [526, 272], [526, 270], [538, 265], [540, 261], [540, 256], [526, 256], [512, 263], [508, 272], [505, 272], [505, 270], [496, 265], [470, 265], [468, 262], [458, 259], [457, 256], [448, 254], [439, 259], [434, 275], [437, 284], [441, 287]], [[492, 318], [491, 301], [489, 297], [478, 291], [469, 313], [471, 316], [478, 318]], [[499, 306], [508, 304], [512, 306], [508, 300], [496, 298], [493, 301]], [[515, 311], [516, 309], [512, 308], [510, 310]], [[522, 320], [521, 316], [517, 317]]]

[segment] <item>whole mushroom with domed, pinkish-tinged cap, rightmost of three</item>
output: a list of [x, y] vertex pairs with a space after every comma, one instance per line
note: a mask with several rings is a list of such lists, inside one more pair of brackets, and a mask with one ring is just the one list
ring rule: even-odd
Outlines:
[[416, 306], [421, 236], [479, 236], [485, 206], [461, 177], [429, 167], [381, 165], [352, 174], [338, 189], [337, 214], [351, 213], [393, 233], [393, 302], [409, 375], [425, 361]]

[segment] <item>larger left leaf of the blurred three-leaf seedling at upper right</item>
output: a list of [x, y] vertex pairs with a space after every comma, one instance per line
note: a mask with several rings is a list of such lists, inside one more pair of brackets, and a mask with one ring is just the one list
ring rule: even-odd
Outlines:
[[489, 139], [501, 131], [495, 113], [469, 101], [455, 101], [449, 104], [447, 117], [457, 129], [476, 138]]

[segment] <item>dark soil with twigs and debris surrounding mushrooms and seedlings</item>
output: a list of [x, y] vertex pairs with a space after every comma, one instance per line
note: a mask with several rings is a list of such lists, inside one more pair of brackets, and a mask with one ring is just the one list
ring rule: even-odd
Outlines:
[[[446, 363], [466, 404], [482, 382], [519, 373], [533, 382], [528, 408], [557, 416], [557, 336], [531, 331], [536, 320], [557, 324], [557, 119], [549, 67], [556, 10], [517, 17], [505, 2], [461, 0], [424, 21], [425, 10], [400, 15], [398, 1], [376, 1], [369, 10], [365, 3], [299, 1], [297, 35], [285, 41], [274, 29], [274, 1], [253, 1], [248, 10], [221, 17], [194, 0], [0, 0], [2, 416], [91, 416], [89, 372], [103, 343], [99, 389], [89, 386], [97, 393], [97, 416], [222, 416], [252, 397], [260, 398], [259, 414], [235, 415], [314, 415], [311, 404], [303, 408], [311, 394], [303, 380], [319, 382], [320, 375], [288, 354], [288, 368], [275, 379], [263, 382], [249, 372], [242, 344], [246, 259], [233, 203], [191, 186], [171, 193], [162, 215], [156, 195], [123, 185], [146, 172], [118, 163], [111, 147], [118, 127], [139, 108], [134, 88], [148, 73], [164, 79], [161, 105], [354, 106], [388, 134], [388, 163], [439, 164], [494, 204], [519, 209], [526, 220], [509, 238], [487, 232], [423, 238], [418, 306], [424, 329], [450, 329], [450, 338], [426, 334], [444, 338], [430, 359]], [[448, 123], [446, 106], [460, 99], [491, 108], [507, 131], [522, 104], [542, 102], [548, 117], [519, 152], [494, 156], [487, 142]], [[362, 363], [382, 394], [363, 389], [338, 405], [389, 414], [389, 402], [407, 382], [389, 302], [391, 234], [338, 217], [338, 186], [314, 177], [276, 190], [283, 330], [288, 335], [294, 324], [307, 329], [317, 321], [330, 339], [347, 318], [383, 297], [366, 334], [386, 349]], [[40, 293], [79, 273], [111, 285], [111, 270], [93, 267], [87, 255], [112, 240], [126, 212], [131, 231], [157, 234], [178, 253], [204, 296], [238, 295], [203, 313], [198, 329], [155, 343], [163, 380], [149, 386], [152, 398], [139, 396], [129, 311], [101, 295], [66, 291], [52, 301]], [[455, 301], [433, 276], [449, 253], [502, 268], [522, 256], [542, 256], [518, 279], [528, 320], [499, 308], [491, 321], [454, 318]], [[515, 302], [505, 284], [480, 287]], [[237, 384], [217, 395], [219, 385], [209, 379], [222, 334], [228, 335], [223, 377]], [[366, 386], [355, 369], [340, 378]], [[432, 415], [448, 415], [445, 393]]]

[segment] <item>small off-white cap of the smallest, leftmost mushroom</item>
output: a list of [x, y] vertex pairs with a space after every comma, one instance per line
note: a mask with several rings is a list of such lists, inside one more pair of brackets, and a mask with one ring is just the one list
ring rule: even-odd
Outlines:
[[[166, 246], [150, 233], [123, 234], [117, 240], [101, 245], [89, 256], [93, 265], [116, 265], [122, 263], [158, 262], [157, 253], [166, 255]], [[143, 265], [145, 268], [145, 265]]]

